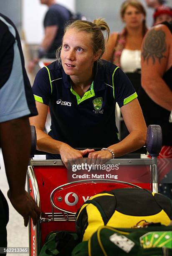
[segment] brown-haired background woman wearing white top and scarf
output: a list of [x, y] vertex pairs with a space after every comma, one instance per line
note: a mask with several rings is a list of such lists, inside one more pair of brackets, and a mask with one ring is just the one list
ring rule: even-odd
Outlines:
[[[146, 11], [139, 1], [126, 0], [121, 5], [120, 15], [125, 27], [120, 33], [110, 35], [102, 59], [121, 67], [138, 93], [141, 87], [141, 45], [147, 32]], [[120, 122], [120, 127], [120, 138], [125, 138], [129, 132], [124, 121]]]

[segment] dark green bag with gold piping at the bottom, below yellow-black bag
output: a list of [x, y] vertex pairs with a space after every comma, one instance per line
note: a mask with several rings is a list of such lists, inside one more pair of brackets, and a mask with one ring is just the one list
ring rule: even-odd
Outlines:
[[79, 243], [72, 256], [161, 256], [172, 255], [172, 226], [157, 223], [147, 228], [101, 226]]

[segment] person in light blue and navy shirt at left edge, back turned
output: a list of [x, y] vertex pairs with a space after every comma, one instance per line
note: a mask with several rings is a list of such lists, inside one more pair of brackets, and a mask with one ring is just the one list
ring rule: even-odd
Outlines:
[[[28, 225], [37, 223], [40, 209], [25, 191], [30, 157], [31, 134], [28, 117], [37, 115], [35, 101], [25, 71], [18, 31], [0, 14], [0, 148], [8, 179], [8, 197]], [[8, 204], [0, 191], [0, 247], [7, 247]]]

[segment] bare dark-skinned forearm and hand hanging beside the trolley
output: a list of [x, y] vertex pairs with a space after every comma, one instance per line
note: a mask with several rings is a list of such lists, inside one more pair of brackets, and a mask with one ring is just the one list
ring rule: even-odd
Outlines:
[[28, 118], [22, 117], [0, 123], [0, 146], [10, 188], [8, 197], [15, 210], [23, 216], [25, 226], [28, 225], [29, 216], [33, 218], [34, 225], [40, 216], [40, 209], [25, 191], [30, 143]]

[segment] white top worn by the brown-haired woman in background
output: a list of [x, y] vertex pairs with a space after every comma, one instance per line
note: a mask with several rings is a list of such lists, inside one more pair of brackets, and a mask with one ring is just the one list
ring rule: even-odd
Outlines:
[[134, 72], [141, 69], [141, 51], [123, 49], [120, 59], [121, 69], [126, 72]]

